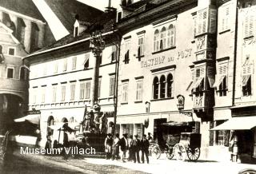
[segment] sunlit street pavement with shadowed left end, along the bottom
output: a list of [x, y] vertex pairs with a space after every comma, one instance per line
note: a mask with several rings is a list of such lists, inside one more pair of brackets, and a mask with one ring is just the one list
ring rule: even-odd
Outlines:
[[150, 164], [123, 163], [120, 160], [97, 158], [69, 158], [62, 156], [20, 155], [14, 152], [12, 165], [0, 173], [153, 173], [153, 174], [238, 174], [245, 168], [254, 168], [253, 164], [236, 164], [232, 162], [216, 162], [198, 160], [197, 162], [150, 158]]

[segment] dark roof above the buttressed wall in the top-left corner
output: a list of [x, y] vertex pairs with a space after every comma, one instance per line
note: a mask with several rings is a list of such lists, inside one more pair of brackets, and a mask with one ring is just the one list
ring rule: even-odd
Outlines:
[[0, 6], [19, 14], [45, 21], [32, 0], [0, 0]]

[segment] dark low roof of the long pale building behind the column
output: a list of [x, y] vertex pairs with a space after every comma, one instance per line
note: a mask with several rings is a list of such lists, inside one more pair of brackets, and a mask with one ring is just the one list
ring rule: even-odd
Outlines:
[[77, 37], [74, 37], [73, 34], [73, 30], [72, 33], [67, 35], [66, 37], [54, 42], [51, 45], [46, 45], [46, 47], [39, 49], [37, 52], [34, 52], [32, 54], [30, 54], [27, 57], [33, 57], [34, 54], [41, 54], [41, 53], [45, 53], [45, 52], [50, 52], [50, 50], [54, 49], [54, 48], [58, 48], [64, 45], [68, 45], [70, 43], [74, 43], [74, 42], [78, 42], [78, 41], [82, 41], [85, 40], [86, 38], [90, 38], [90, 30], [94, 30], [94, 26], [97, 26], [98, 24], [102, 24], [103, 25], [103, 29], [102, 29], [102, 34], [106, 34], [110, 31], [113, 31], [113, 25], [115, 23], [115, 16], [116, 16], [116, 12], [109, 12], [106, 14], [102, 14], [100, 17], [98, 18], [94, 18], [94, 22], [91, 23], [91, 26], [89, 27], [88, 30], [83, 31], [81, 34], [79, 34]]

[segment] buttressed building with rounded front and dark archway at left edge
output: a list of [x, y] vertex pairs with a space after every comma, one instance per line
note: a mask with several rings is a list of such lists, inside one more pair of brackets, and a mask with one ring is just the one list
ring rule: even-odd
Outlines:
[[2, 129], [9, 127], [14, 118], [25, 114], [29, 69], [23, 63], [22, 57], [42, 48], [45, 44], [45, 27], [46, 23], [32, 1], [0, 1]]

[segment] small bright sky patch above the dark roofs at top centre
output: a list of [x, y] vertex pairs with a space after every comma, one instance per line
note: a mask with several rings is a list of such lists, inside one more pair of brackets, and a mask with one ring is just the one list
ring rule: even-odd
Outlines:
[[[79, 2], [83, 2], [89, 6], [94, 6], [99, 10], [106, 10], [105, 7], [108, 6], [109, 0], [78, 0]], [[111, 0], [111, 6], [117, 8], [120, 4], [121, 0]]]

